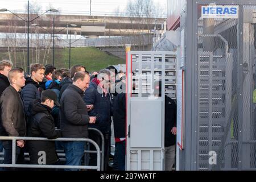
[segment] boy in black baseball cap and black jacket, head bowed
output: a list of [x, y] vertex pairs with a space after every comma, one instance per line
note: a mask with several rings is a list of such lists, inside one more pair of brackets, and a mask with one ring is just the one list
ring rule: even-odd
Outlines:
[[[32, 102], [31, 118], [28, 127], [28, 137], [44, 137], [55, 139], [61, 137], [60, 130], [55, 130], [51, 115], [53, 106], [60, 106], [57, 96], [52, 90], [44, 90], [40, 100]], [[55, 164], [59, 158], [53, 141], [28, 141], [28, 152], [31, 164]], [[39, 158], [45, 156], [43, 160]]]

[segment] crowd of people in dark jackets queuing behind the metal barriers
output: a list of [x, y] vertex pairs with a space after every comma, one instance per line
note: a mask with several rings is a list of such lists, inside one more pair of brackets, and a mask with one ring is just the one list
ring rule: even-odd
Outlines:
[[[109, 169], [110, 137], [114, 134], [114, 170], [125, 170], [126, 97], [114, 92], [116, 85], [125, 88], [126, 76], [114, 67], [89, 73], [82, 65], [71, 69], [56, 69], [53, 65], [31, 64], [31, 73], [13, 68], [10, 61], [0, 62], [0, 136], [56, 138], [90, 138], [101, 147], [101, 137], [88, 127], [104, 135], [104, 170]], [[113, 83], [113, 84], [112, 84]], [[114, 85], [114, 86], [113, 86]], [[159, 86], [158, 86], [159, 89]], [[166, 115], [167, 147], [174, 160], [176, 134], [176, 105], [168, 98]], [[167, 113], [170, 113], [168, 110]], [[114, 131], [111, 131], [113, 121]], [[171, 130], [171, 131], [168, 131]], [[171, 138], [171, 139], [170, 139]], [[170, 145], [172, 147], [170, 147]], [[24, 164], [24, 151], [30, 164], [59, 164], [56, 149], [65, 152], [65, 165], [81, 166], [86, 142], [54, 142], [52, 140], [16, 140], [16, 163]], [[4, 163], [11, 164], [11, 140], [0, 141], [4, 148]], [[95, 147], [90, 144], [90, 150]], [[40, 156], [46, 156], [42, 160]], [[169, 160], [169, 159], [168, 159]], [[89, 166], [97, 165], [97, 155], [90, 154]], [[172, 164], [168, 164], [169, 166]], [[65, 169], [77, 170], [77, 169]]]

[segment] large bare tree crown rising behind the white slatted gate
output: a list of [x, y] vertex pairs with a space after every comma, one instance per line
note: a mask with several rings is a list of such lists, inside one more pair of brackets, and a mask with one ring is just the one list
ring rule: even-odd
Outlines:
[[[130, 43], [133, 48], [139, 50], [150, 49], [151, 46], [148, 43], [152, 42], [154, 34], [154, 24], [158, 22], [159, 18], [165, 15], [164, 4], [155, 4], [152, 0], [134, 0], [129, 1], [126, 6], [126, 16], [122, 16], [118, 19], [119, 36], [122, 38], [123, 48], [125, 44]], [[115, 9], [115, 16], [121, 15], [119, 8]], [[124, 20], [129, 18], [130, 23], [125, 24]], [[123, 37], [123, 34], [130, 36], [130, 39]], [[130, 40], [130, 42], [127, 42]]]

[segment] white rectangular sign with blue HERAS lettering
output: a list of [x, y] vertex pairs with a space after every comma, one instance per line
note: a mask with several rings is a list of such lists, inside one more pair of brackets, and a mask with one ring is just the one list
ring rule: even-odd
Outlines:
[[202, 6], [202, 18], [238, 18], [238, 6]]

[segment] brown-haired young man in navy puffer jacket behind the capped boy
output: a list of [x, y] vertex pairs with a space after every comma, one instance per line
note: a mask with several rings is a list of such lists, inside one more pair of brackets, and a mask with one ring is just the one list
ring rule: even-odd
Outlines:
[[28, 107], [30, 106], [32, 100], [40, 99], [41, 92], [39, 82], [43, 81], [44, 71], [46, 68], [42, 64], [31, 64], [31, 78], [27, 78], [26, 86], [22, 89], [21, 96], [24, 100], [25, 105], [25, 113], [28, 117], [30, 117], [30, 110]]

